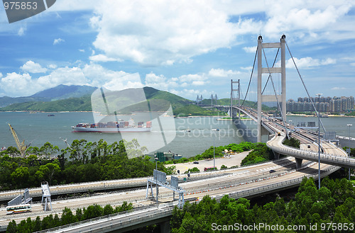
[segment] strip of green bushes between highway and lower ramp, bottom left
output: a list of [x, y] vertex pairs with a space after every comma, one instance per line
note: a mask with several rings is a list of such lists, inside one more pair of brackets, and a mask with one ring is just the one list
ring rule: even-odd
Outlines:
[[11, 222], [9, 222], [6, 232], [38, 232], [45, 229], [60, 227], [75, 222], [89, 220], [95, 217], [112, 215], [118, 212], [123, 212], [131, 209], [133, 209], [132, 203], [127, 204], [126, 202], [124, 202], [121, 206], [116, 206], [116, 208], [112, 208], [111, 205], [105, 205], [104, 208], [102, 208], [100, 205], [89, 205], [87, 208], [77, 208], [75, 214], [72, 213], [72, 210], [70, 210], [70, 208], [65, 208], [62, 211], [62, 215], [60, 217], [58, 217], [58, 214], [55, 214], [54, 217], [53, 215], [43, 217], [43, 220], [40, 220], [39, 216], [35, 220], [31, 220], [31, 217], [28, 217], [27, 220], [22, 220], [18, 225], [16, 224], [15, 220], [12, 220]]

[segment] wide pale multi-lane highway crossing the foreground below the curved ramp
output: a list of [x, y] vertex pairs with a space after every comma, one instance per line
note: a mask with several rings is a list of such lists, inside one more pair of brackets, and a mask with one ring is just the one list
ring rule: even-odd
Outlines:
[[[317, 163], [307, 162], [304, 165], [302, 169], [296, 171], [293, 169], [295, 167], [295, 159], [288, 157], [264, 164], [226, 170], [224, 176], [181, 183], [180, 186], [186, 190], [185, 198], [202, 198], [207, 194], [217, 198], [222, 197], [224, 194], [229, 194], [233, 197], [253, 197], [262, 193], [278, 191], [286, 187], [298, 186], [300, 181], [302, 181], [302, 176], [317, 176]], [[271, 169], [275, 170], [275, 173], [270, 174], [269, 171]], [[322, 176], [327, 176], [329, 172], [337, 169], [339, 168], [322, 164]], [[209, 172], [209, 174], [214, 173]], [[293, 183], [288, 183], [289, 181], [293, 181]], [[135, 191], [94, 195], [89, 198], [54, 200], [52, 203], [53, 211], [50, 212], [44, 212], [40, 204], [33, 205], [33, 212], [19, 215], [6, 215], [5, 208], [1, 208], [0, 226], [6, 226], [10, 220], [20, 222], [27, 217], [35, 219], [38, 215], [40, 217], [49, 214], [54, 215], [55, 213], [60, 215], [61, 210], [65, 207], [76, 210], [93, 203], [114, 206], [121, 205], [124, 201], [131, 202], [135, 206], [146, 206], [154, 203], [151, 200], [146, 200], [145, 194], [146, 188], [139, 188]], [[171, 202], [173, 200], [173, 192], [166, 188], [159, 188], [159, 198], [160, 202]]]

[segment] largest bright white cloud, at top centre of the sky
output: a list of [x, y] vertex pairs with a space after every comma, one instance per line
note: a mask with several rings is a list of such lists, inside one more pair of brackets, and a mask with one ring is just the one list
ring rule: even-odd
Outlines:
[[96, 5], [94, 46], [114, 59], [145, 65], [191, 62], [196, 55], [231, 47], [237, 34], [217, 1], [107, 0]]

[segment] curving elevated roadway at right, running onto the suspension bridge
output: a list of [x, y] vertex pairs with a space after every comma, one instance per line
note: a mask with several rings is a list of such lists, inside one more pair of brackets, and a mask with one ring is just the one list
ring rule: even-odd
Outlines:
[[[251, 116], [253, 120], [256, 120], [256, 113], [250, 108], [237, 108], [242, 110], [247, 115]], [[266, 142], [266, 145], [279, 154], [286, 154], [288, 156], [295, 157], [297, 159], [307, 159], [310, 161], [318, 161], [318, 153], [309, 150], [296, 149], [293, 147], [288, 147], [282, 144], [285, 140], [285, 132], [283, 123], [278, 122], [273, 118], [269, 118], [268, 115], [263, 114], [262, 124], [268, 131], [278, 133], [281, 136], [275, 135], [271, 140]], [[288, 125], [288, 130], [293, 130], [294, 127]], [[300, 140], [301, 144], [317, 144], [317, 137], [306, 130], [301, 130], [300, 133], [293, 132], [292, 137], [296, 137]], [[349, 158], [346, 152], [340, 147], [336, 147], [332, 142], [323, 141], [322, 152], [320, 153], [320, 161], [324, 164], [331, 164], [334, 166], [342, 166], [346, 168], [355, 169], [355, 159]]]

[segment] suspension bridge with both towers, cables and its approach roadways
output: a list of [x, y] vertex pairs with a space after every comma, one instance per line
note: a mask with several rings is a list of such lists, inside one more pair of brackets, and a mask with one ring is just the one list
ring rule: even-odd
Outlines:
[[[191, 198], [191, 200], [202, 199], [204, 195], [210, 195], [212, 198], [220, 199], [223, 195], [228, 194], [231, 198], [253, 198], [258, 195], [264, 195], [267, 193], [273, 193], [281, 191], [286, 188], [299, 186], [304, 176], [321, 178], [332, 174], [334, 171], [340, 169], [340, 167], [355, 168], [355, 159], [351, 159], [347, 156], [341, 148], [337, 147], [332, 142], [333, 137], [324, 137], [322, 145], [320, 147], [320, 141], [317, 142], [317, 135], [314, 135], [307, 130], [296, 129], [293, 125], [286, 124], [286, 75], [285, 75], [285, 53], [286, 47], [290, 53], [290, 49], [285, 41], [285, 35], [280, 38], [280, 42], [265, 43], [261, 36], [258, 37], [258, 47], [254, 58], [253, 69], [251, 72], [251, 79], [249, 80], [248, 89], [244, 96], [244, 100], [241, 101], [241, 89], [240, 80], [231, 80], [231, 105], [230, 106], [217, 106], [214, 105], [214, 96], [212, 96], [212, 106], [216, 108], [223, 108], [229, 110], [232, 118], [236, 118], [240, 113], [248, 115], [257, 125], [256, 139], [261, 142], [261, 136], [263, 134], [270, 135], [271, 139], [266, 142], [267, 146], [271, 148], [278, 158], [280, 154], [284, 154], [288, 157], [278, 159], [275, 161], [268, 161], [263, 164], [256, 164], [249, 167], [241, 167], [238, 169], [229, 169], [224, 171], [211, 171], [210, 177], [203, 177], [193, 182], [181, 183], [179, 186], [183, 188], [185, 193], [185, 199]], [[273, 65], [269, 67], [268, 60], [266, 59], [265, 49], [277, 49], [276, 57], [280, 52], [280, 62], [274, 59]], [[290, 53], [290, 57], [292, 57]], [[293, 57], [292, 57], [293, 59]], [[254, 67], [257, 63], [257, 108], [250, 108], [245, 106], [246, 97], [253, 93], [251, 84], [253, 82]], [[295, 61], [293, 59], [295, 64]], [[266, 64], [266, 67], [263, 67]], [[295, 64], [296, 65], [296, 64]], [[297, 69], [297, 67], [296, 67]], [[297, 73], [300, 76], [302, 84], [307, 92], [305, 83], [302, 80], [300, 72]], [[266, 81], [263, 81], [263, 74], [267, 75]], [[275, 75], [277, 76], [275, 78]], [[264, 75], [265, 77], [265, 75]], [[276, 80], [278, 79], [278, 80]], [[280, 85], [278, 84], [280, 83]], [[263, 88], [263, 84], [265, 84]], [[273, 93], [270, 93], [271, 92]], [[269, 91], [269, 93], [268, 93]], [[234, 92], [238, 93], [238, 98], [234, 98]], [[202, 96], [197, 96], [197, 103], [202, 102]], [[217, 102], [217, 96], [215, 96]], [[238, 104], [234, 104], [237, 100]], [[280, 118], [273, 118], [261, 110], [262, 103], [265, 101], [272, 101], [277, 104], [280, 112]], [[312, 103], [315, 107], [315, 104]], [[319, 113], [315, 109], [317, 115]], [[236, 125], [242, 125], [240, 118], [236, 120]], [[324, 126], [322, 125], [324, 129]], [[324, 133], [324, 135], [326, 135]], [[288, 147], [283, 144], [286, 138], [295, 137], [300, 140], [300, 149]], [[320, 153], [317, 153], [318, 149], [321, 149]], [[320, 161], [320, 163], [318, 163]], [[270, 173], [269, 171], [273, 171]], [[213, 176], [212, 176], [213, 174]], [[177, 176], [178, 179], [184, 178], [186, 175]], [[192, 175], [199, 176], [197, 174]], [[189, 177], [190, 178], [190, 177]], [[121, 182], [121, 181], [118, 181]], [[134, 182], [144, 183], [143, 180], [137, 181], [127, 179], [124, 183], [117, 185], [131, 186]], [[126, 184], [127, 183], [127, 184]], [[79, 186], [88, 186], [89, 184], [74, 184], [72, 187], [66, 188], [79, 188]], [[133, 185], [134, 186], [134, 185]], [[58, 190], [61, 187], [57, 187]], [[152, 191], [153, 192], [153, 191]], [[158, 194], [158, 192], [157, 192]], [[10, 195], [8, 193], [8, 195]], [[74, 225], [67, 225], [57, 229], [53, 229], [51, 232], [125, 232], [130, 229], [136, 229], [145, 225], [153, 223], [159, 223], [163, 232], [169, 232], [168, 221], [173, 213], [173, 206], [178, 205], [178, 201], [174, 200], [173, 194], [167, 188], [160, 188], [160, 203], [153, 205], [152, 200], [147, 200], [146, 189], [137, 188], [131, 191], [124, 191], [120, 193], [107, 193], [105, 195], [97, 195], [90, 198], [77, 198], [74, 200], [56, 200], [53, 202], [53, 210], [51, 214], [56, 211], [60, 215], [60, 211], [65, 206], [72, 208], [79, 208], [97, 203], [98, 205], [106, 205], [107, 203], [119, 205], [124, 201], [133, 203], [136, 208], [130, 212], [125, 212], [121, 215], [110, 215], [108, 217], [100, 217], [98, 219], [89, 220], [86, 222], [78, 222]], [[1, 193], [0, 193], [1, 196]], [[0, 209], [0, 226], [9, 222], [13, 217], [5, 217], [4, 211]], [[33, 206], [33, 213], [18, 216], [16, 221], [21, 221], [27, 217], [35, 217], [37, 215], [45, 216], [48, 212], [43, 212], [40, 205]], [[3, 217], [4, 216], [4, 217]], [[5, 229], [4, 227], [1, 229]], [[47, 232], [47, 231], [45, 231]]]

